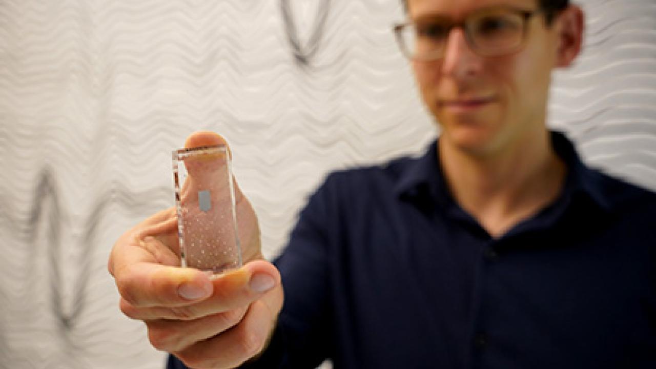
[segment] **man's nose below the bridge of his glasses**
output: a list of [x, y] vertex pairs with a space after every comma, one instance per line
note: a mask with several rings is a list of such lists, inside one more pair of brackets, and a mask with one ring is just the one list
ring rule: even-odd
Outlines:
[[464, 30], [453, 28], [447, 39], [446, 50], [442, 58], [442, 74], [454, 79], [467, 79], [476, 76], [482, 67], [482, 60], [472, 51]]

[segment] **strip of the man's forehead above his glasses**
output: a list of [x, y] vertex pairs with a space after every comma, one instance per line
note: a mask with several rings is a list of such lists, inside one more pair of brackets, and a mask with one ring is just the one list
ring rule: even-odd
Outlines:
[[424, 14], [443, 14], [460, 18], [472, 11], [489, 7], [533, 9], [538, 0], [406, 0], [411, 18]]

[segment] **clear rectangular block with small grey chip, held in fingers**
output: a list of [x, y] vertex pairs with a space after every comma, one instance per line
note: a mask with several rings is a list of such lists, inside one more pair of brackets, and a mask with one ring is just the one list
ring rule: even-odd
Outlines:
[[215, 273], [241, 267], [226, 146], [175, 150], [173, 180], [181, 266]]

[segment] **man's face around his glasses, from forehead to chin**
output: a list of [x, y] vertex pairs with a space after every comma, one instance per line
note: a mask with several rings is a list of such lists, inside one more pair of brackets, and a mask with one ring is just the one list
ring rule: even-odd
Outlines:
[[[536, 0], [407, 0], [415, 22], [445, 16], [460, 22], [490, 7], [537, 10]], [[550, 74], [558, 39], [542, 13], [527, 21], [523, 47], [513, 54], [480, 56], [462, 28], [453, 28], [443, 58], [413, 61], [415, 77], [441, 137], [457, 148], [491, 155], [544, 129]]]

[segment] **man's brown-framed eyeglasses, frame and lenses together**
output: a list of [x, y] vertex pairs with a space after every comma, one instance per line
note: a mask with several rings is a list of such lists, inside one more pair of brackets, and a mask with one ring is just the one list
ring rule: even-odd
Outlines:
[[542, 12], [511, 8], [482, 9], [462, 22], [436, 16], [394, 26], [401, 51], [412, 60], [443, 58], [449, 33], [461, 27], [468, 45], [480, 56], [501, 56], [519, 51], [526, 38], [528, 20]]

